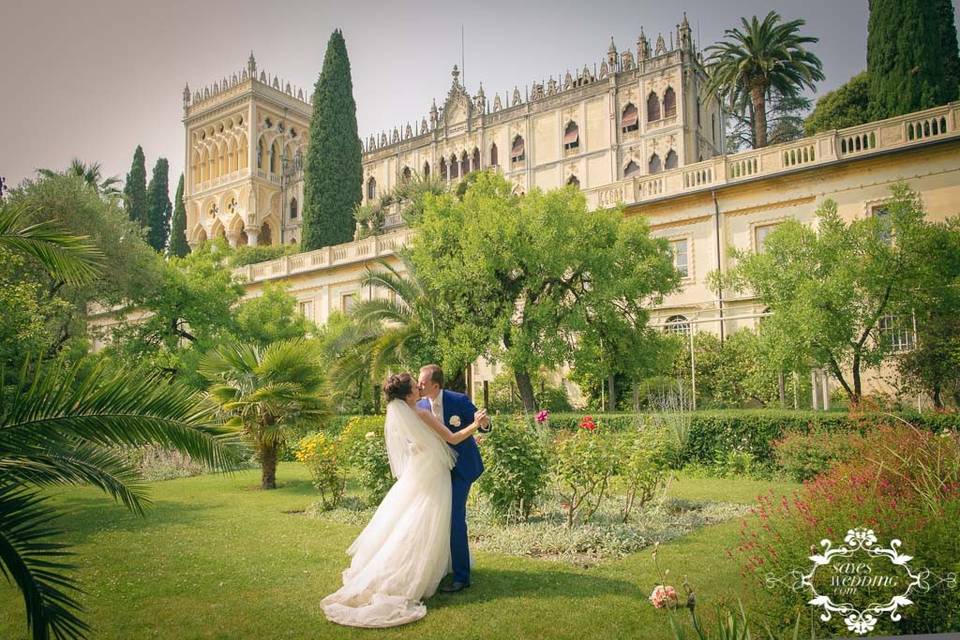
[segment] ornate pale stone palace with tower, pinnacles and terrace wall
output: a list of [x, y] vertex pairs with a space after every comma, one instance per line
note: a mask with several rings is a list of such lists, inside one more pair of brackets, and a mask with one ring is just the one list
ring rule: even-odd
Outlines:
[[[880, 215], [898, 180], [921, 194], [931, 218], [960, 214], [960, 103], [724, 155], [724, 118], [704, 81], [686, 19], [652, 47], [641, 31], [635, 49], [618, 52], [611, 41], [596, 67], [492, 100], [482, 87], [470, 95], [454, 67], [442, 106], [419, 124], [364, 141], [364, 201], [416, 173], [455, 181], [490, 168], [518, 192], [577, 185], [591, 208], [619, 203], [672, 244], [683, 286], [653, 310], [653, 323], [721, 335], [754, 326], [765, 309], [750, 295], [711, 290], [708, 274], [729, 266], [731, 247], [762, 250], [782, 220], [815, 225], [827, 198], [848, 220]], [[252, 55], [231, 78], [184, 90], [192, 245], [211, 237], [234, 245], [300, 237], [311, 111], [304, 97], [258, 75]], [[301, 312], [323, 323], [356, 299], [380, 295], [360, 279], [373, 260], [392, 260], [410, 233], [399, 216], [388, 216], [383, 235], [248, 265], [238, 275], [251, 296], [265, 282], [284, 282]], [[109, 313], [91, 321], [112, 322]], [[911, 348], [911, 319], [884, 318], [881, 326], [895, 349]], [[471, 373], [474, 381], [492, 374], [479, 365]], [[896, 392], [896, 381], [882, 379], [874, 383]]]

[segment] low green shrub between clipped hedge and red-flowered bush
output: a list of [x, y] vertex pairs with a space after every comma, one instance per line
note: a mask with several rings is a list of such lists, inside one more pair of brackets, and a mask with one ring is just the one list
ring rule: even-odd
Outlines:
[[797, 482], [805, 482], [834, 464], [850, 460], [859, 439], [862, 436], [853, 432], [789, 431], [773, 447], [780, 470]]

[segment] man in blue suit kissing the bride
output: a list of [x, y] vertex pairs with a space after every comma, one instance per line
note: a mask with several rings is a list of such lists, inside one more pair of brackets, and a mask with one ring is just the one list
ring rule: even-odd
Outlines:
[[[428, 364], [420, 369], [421, 400], [417, 406], [433, 412], [454, 433], [473, 423], [477, 408], [462, 393], [443, 388], [443, 370]], [[481, 427], [489, 429], [490, 418], [483, 416]], [[441, 591], [453, 593], [470, 586], [470, 549], [467, 547], [467, 494], [470, 485], [483, 473], [480, 449], [473, 437], [458, 445], [457, 463], [450, 471], [453, 480], [453, 509], [450, 520], [450, 554], [453, 557], [453, 581], [440, 586]]]

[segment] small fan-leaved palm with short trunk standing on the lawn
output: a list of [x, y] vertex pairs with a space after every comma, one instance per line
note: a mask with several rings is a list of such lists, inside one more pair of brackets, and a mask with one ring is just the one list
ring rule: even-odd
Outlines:
[[208, 400], [253, 444], [261, 488], [276, 489], [277, 452], [289, 428], [326, 414], [316, 343], [294, 338], [265, 348], [224, 344], [204, 356], [197, 370], [211, 382]]

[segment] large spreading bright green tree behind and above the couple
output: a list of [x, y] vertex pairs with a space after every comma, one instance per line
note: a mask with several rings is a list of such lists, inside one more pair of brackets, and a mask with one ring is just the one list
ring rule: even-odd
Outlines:
[[532, 411], [531, 376], [582, 358], [601, 336], [632, 362], [645, 351], [648, 312], [679, 276], [665, 240], [639, 217], [588, 211], [575, 189], [513, 193], [499, 174], [480, 172], [462, 200], [427, 195], [411, 247], [432, 292], [444, 367], [486, 354], [514, 372]]

